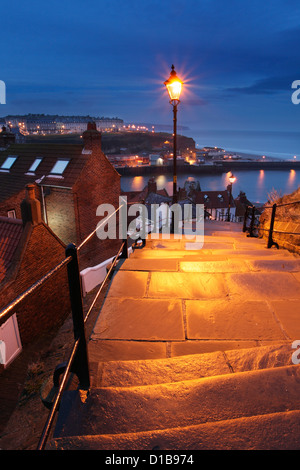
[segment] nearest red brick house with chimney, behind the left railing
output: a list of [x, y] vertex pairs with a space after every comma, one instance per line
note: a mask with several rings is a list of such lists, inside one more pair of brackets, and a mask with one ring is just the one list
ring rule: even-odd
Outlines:
[[[27, 187], [22, 216], [23, 220], [0, 217], [0, 310], [65, 258], [65, 245], [42, 221], [34, 185]], [[22, 345], [60, 325], [69, 313], [67, 271], [63, 268], [17, 305], [9, 319], [0, 320], [7, 359]]]

